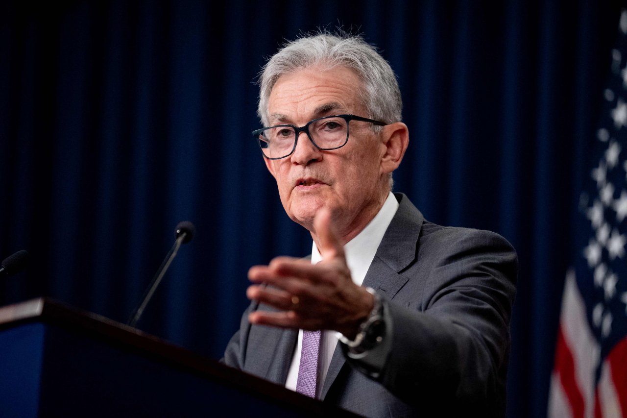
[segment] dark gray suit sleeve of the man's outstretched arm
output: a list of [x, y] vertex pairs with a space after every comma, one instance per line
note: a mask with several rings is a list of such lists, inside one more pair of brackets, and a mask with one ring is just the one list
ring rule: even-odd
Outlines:
[[495, 233], [459, 235], [438, 246], [429, 277], [414, 277], [426, 279], [418, 309], [387, 302], [392, 343], [377, 380], [422, 410], [504, 413], [517, 256]]

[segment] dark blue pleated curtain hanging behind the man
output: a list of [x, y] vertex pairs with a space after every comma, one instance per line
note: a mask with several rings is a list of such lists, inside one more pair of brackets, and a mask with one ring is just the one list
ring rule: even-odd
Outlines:
[[[53, 3], [53, 4], [50, 4]], [[410, 144], [394, 173], [428, 220], [519, 252], [508, 416], [545, 415], [582, 167], [620, 2], [0, 3], [0, 301], [47, 295], [219, 358], [246, 271], [306, 255], [250, 132], [265, 58], [319, 27], [362, 33], [398, 75]]]

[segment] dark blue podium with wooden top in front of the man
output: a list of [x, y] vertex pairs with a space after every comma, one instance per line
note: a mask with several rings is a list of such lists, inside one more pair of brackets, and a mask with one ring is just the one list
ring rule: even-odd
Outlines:
[[0, 417], [356, 417], [41, 297], [0, 308]]

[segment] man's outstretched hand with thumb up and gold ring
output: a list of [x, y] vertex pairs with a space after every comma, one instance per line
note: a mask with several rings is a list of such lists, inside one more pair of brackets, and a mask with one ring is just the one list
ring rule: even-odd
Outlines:
[[[374, 306], [374, 297], [350, 278], [344, 246], [331, 225], [329, 209], [314, 220], [322, 261], [277, 257], [270, 265], [255, 265], [248, 271], [251, 282], [246, 296], [274, 306], [280, 312], [255, 311], [253, 324], [303, 330], [335, 330], [353, 339], [359, 324]], [[267, 284], [266, 287], [264, 284]]]

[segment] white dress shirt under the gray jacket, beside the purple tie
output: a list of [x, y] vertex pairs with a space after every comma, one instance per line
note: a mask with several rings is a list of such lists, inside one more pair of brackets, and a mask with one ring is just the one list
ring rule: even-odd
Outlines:
[[[379, 213], [372, 218], [371, 222], [366, 225], [355, 238], [352, 238], [346, 245], [344, 245], [344, 253], [346, 255], [346, 264], [350, 269], [350, 277], [352, 281], [361, 286], [366, 277], [366, 272], [370, 268], [370, 264], [374, 259], [374, 255], [381, 244], [383, 235], [386, 233], [387, 227], [398, 209], [398, 201], [392, 194], [389, 193], [385, 203], [383, 204]], [[316, 264], [322, 260], [318, 248], [312, 244], [312, 264]], [[324, 386], [324, 380], [327, 377], [329, 371], [329, 365], [335, 346], [337, 345], [337, 336], [335, 331], [325, 330], [322, 331], [320, 336], [320, 351], [318, 355], [318, 384], [316, 387], [316, 398], [320, 399], [320, 393]], [[296, 383], [298, 382], [298, 367], [300, 367], [300, 351], [303, 346], [303, 330], [298, 331], [298, 342], [292, 356], [292, 365], [290, 365], [290, 371], [287, 374], [287, 381], [285, 387], [287, 389], [296, 390]]]

